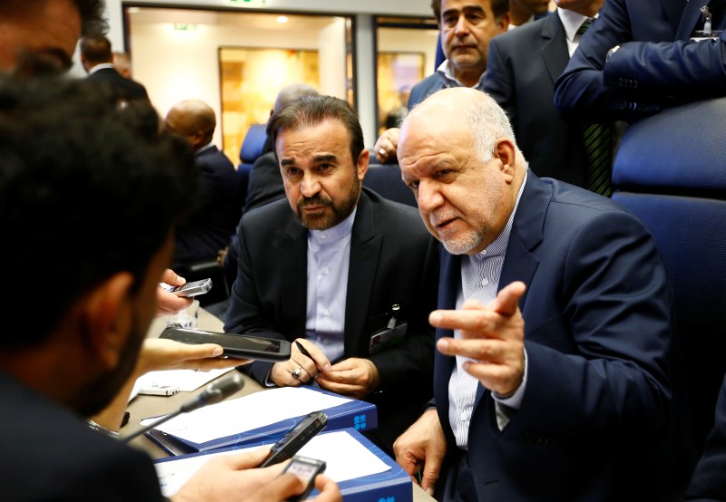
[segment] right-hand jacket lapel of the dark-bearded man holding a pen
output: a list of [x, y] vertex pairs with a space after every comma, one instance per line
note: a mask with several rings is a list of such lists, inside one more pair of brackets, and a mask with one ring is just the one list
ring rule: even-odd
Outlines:
[[373, 294], [373, 283], [383, 238], [376, 234], [373, 204], [365, 190], [360, 194], [356, 219], [350, 237], [350, 265], [346, 294], [345, 354], [356, 352], [360, 337], [366, 336], [368, 305]]

